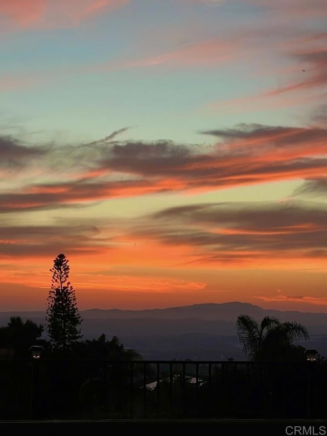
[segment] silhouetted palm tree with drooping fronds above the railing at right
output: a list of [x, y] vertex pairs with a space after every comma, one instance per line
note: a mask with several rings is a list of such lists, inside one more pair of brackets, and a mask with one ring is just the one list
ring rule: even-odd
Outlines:
[[304, 358], [305, 348], [293, 343], [296, 339], [309, 339], [308, 330], [299, 323], [282, 323], [274, 316], [265, 316], [259, 325], [252, 316], [239, 315], [236, 327], [249, 360]]

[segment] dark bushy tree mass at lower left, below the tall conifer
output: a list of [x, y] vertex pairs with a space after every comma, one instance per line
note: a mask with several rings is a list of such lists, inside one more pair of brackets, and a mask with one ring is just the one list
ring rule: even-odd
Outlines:
[[[43, 331], [44, 326], [20, 317], [0, 327], [0, 420], [77, 417], [81, 410], [88, 416], [91, 403], [104, 400], [104, 391], [111, 392], [111, 402], [118, 385], [123, 395], [130, 380], [127, 363], [142, 360], [116, 336], [108, 340], [102, 334], [58, 349], [40, 339]], [[43, 348], [39, 359], [32, 357], [33, 346]], [[109, 362], [126, 364], [115, 371]], [[134, 375], [138, 371], [135, 366]]]

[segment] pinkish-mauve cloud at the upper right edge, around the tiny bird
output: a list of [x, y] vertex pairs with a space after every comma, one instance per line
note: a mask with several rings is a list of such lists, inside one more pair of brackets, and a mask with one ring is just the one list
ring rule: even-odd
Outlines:
[[[213, 110], [244, 110], [281, 108], [298, 106], [300, 104], [317, 105], [324, 101], [327, 89], [327, 51], [324, 49], [327, 42], [327, 33], [317, 30], [291, 29], [290, 35], [281, 29], [254, 29], [244, 33], [244, 38], [256, 38], [260, 41], [255, 53], [261, 52], [265, 56], [268, 45], [272, 47], [274, 56], [270, 57], [267, 67], [260, 77], [275, 77], [276, 86], [271, 89], [261, 89], [255, 94], [225, 100], [216, 100], [207, 104]], [[251, 43], [251, 47], [253, 48]], [[257, 43], [258, 44], [258, 43]], [[267, 45], [268, 44], [268, 45]], [[287, 62], [287, 65], [285, 65]], [[281, 66], [279, 66], [281, 64]]]

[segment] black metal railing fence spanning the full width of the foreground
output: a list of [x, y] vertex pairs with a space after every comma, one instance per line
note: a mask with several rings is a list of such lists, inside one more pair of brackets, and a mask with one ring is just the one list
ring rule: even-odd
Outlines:
[[317, 362], [0, 360], [0, 420], [326, 419]]

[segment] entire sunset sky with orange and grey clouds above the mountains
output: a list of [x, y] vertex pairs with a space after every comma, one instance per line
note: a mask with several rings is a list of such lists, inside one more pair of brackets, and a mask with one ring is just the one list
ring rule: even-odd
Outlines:
[[0, 311], [327, 312], [326, 0], [0, 0]]

